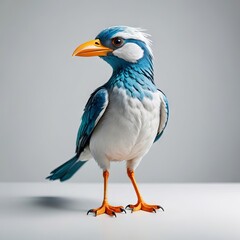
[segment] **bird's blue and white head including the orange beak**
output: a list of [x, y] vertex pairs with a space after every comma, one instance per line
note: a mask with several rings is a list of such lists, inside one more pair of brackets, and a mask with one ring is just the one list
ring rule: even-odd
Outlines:
[[81, 44], [73, 56], [99, 56], [108, 62], [113, 70], [129, 65], [152, 68], [152, 51], [149, 35], [140, 28], [115, 26], [104, 29], [94, 40]]

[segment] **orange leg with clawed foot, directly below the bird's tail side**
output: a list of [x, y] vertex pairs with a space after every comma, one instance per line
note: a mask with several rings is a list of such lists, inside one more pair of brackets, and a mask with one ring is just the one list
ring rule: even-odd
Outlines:
[[125, 212], [126, 213], [123, 206], [113, 207], [113, 206], [109, 205], [108, 199], [107, 199], [108, 177], [109, 177], [109, 172], [106, 170], [106, 171], [103, 172], [104, 195], [103, 195], [103, 203], [102, 203], [101, 207], [95, 208], [95, 209], [90, 209], [87, 212], [87, 214], [95, 213], [95, 216], [98, 216], [98, 215], [106, 213], [109, 216], [115, 216], [116, 217], [116, 213], [120, 213], [120, 212]]

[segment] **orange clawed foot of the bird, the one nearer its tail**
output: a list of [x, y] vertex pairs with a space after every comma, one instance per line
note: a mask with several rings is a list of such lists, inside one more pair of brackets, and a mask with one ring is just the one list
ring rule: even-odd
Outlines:
[[94, 213], [95, 214], [95, 217], [98, 216], [98, 215], [101, 215], [101, 214], [107, 214], [111, 217], [117, 217], [116, 213], [121, 213], [121, 212], [125, 212], [125, 209], [123, 206], [117, 206], [117, 207], [114, 207], [114, 206], [111, 206], [108, 204], [108, 202], [103, 202], [102, 206], [99, 207], [99, 208], [95, 208], [95, 209], [90, 209], [88, 212], [87, 212], [87, 215], [89, 213]]

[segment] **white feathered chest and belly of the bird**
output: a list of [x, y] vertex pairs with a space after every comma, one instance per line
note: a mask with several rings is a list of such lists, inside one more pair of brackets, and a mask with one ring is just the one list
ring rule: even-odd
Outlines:
[[90, 149], [95, 157], [130, 160], [142, 157], [152, 145], [159, 126], [160, 98], [143, 101], [114, 88], [109, 105], [95, 128]]

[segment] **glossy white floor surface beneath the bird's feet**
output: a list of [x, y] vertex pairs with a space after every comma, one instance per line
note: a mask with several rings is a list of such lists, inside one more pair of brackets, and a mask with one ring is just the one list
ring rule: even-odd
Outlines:
[[[140, 184], [165, 211], [87, 216], [102, 201], [102, 184], [0, 183], [0, 239], [239, 240], [240, 184]], [[109, 185], [109, 202], [136, 198], [130, 184]]]

